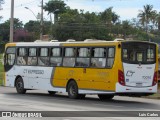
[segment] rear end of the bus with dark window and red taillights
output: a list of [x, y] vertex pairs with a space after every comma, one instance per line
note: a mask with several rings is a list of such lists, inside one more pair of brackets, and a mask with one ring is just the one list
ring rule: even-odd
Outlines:
[[147, 96], [157, 92], [157, 47], [148, 42], [122, 42], [122, 66], [116, 93]]

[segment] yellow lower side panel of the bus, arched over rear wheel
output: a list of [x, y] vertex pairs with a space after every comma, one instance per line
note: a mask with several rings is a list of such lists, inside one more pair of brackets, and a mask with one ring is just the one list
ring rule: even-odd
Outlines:
[[114, 69], [57, 67], [52, 84], [54, 87], [66, 87], [67, 82], [73, 79], [79, 89], [115, 91], [115, 77]]

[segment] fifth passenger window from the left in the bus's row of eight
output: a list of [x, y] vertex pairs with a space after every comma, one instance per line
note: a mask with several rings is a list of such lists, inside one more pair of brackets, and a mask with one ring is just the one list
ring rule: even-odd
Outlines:
[[65, 52], [64, 52], [64, 58], [63, 58], [63, 66], [74, 67], [76, 49], [75, 48], [65, 48], [64, 51]]

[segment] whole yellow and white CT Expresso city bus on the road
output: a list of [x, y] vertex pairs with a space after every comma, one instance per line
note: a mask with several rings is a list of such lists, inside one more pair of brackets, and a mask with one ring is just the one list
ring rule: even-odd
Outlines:
[[20, 94], [41, 89], [73, 99], [147, 96], [157, 92], [158, 46], [126, 40], [8, 43], [4, 68], [5, 86]]

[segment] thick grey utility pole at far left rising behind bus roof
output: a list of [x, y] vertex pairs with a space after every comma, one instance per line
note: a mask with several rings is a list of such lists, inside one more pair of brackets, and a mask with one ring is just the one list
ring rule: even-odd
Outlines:
[[11, 0], [10, 42], [13, 42], [13, 25], [14, 25], [14, 0]]

